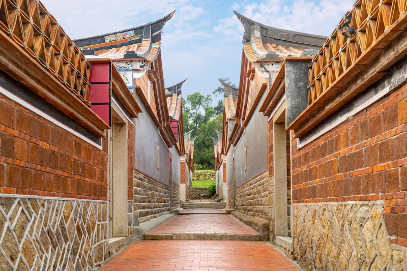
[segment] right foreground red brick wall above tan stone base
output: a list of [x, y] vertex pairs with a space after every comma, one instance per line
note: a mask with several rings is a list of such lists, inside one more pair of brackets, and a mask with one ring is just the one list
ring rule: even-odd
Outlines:
[[297, 150], [293, 203], [385, 200], [392, 244], [407, 246], [407, 84]]

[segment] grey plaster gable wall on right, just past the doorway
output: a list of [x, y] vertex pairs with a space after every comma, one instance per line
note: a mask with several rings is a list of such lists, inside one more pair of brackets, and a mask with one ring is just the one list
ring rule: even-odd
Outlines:
[[[236, 187], [246, 183], [267, 169], [267, 117], [259, 112], [259, 107], [266, 97], [261, 97], [254, 113], [246, 126], [245, 133], [235, 147]], [[247, 153], [247, 170], [245, 171], [245, 146]]]

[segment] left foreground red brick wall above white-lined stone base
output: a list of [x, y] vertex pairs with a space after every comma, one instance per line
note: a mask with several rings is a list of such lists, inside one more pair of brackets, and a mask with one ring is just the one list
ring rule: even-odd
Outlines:
[[103, 150], [0, 95], [2, 193], [107, 198]]

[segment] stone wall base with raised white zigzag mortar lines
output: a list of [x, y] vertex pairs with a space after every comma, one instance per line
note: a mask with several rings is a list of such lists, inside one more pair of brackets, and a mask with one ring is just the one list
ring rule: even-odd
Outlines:
[[107, 258], [106, 214], [101, 201], [0, 198], [0, 269], [97, 268]]

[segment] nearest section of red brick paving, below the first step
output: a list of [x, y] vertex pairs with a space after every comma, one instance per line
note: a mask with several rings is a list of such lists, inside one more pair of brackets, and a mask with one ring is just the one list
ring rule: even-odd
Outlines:
[[266, 242], [230, 240], [136, 242], [100, 270], [298, 271], [296, 266]]

